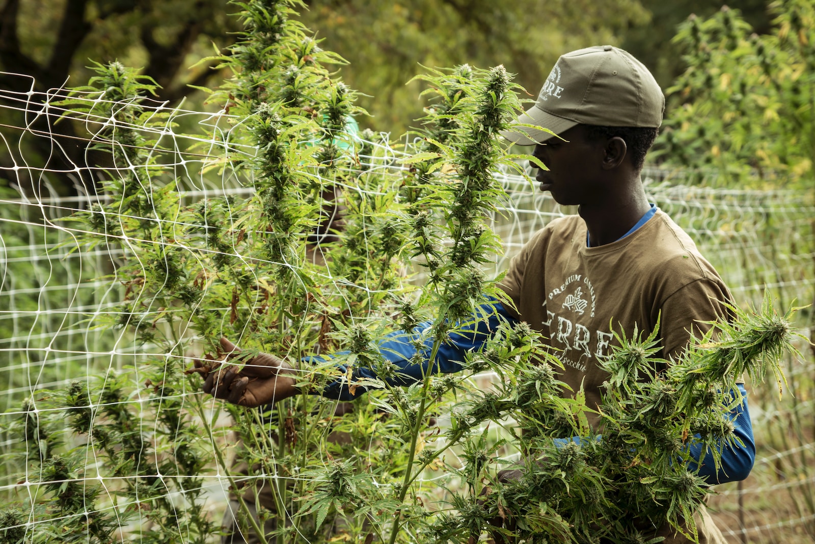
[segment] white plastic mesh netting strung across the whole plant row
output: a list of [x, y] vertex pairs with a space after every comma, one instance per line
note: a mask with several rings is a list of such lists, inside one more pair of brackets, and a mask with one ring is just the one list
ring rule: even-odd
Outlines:
[[[97, 376], [121, 374], [137, 386], [127, 403], [155, 403], [155, 394], [143, 392], [150, 389], [144, 387], [145, 377], [134, 370], [140, 361], [189, 360], [196, 355], [191, 348], [196, 346], [194, 323], [162, 325], [174, 309], [160, 307], [151, 300], [139, 301], [142, 303], [139, 310], [133, 309], [139, 285], [120, 270], [123, 263], [139, 262], [139, 250], [135, 249], [138, 245], [131, 244], [121, 230], [104, 225], [131, 220], [163, 222], [167, 223], [168, 232], [173, 232], [181, 222], [172, 224], [167, 215], [117, 216], [112, 206], [116, 201], [104, 191], [97, 191], [100, 179], [121, 176], [140, 167], [109, 160], [100, 162], [104, 166], [88, 166], [104, 153], [111, 153], [110, 146], [127, 145], [121, 140], [108, 140], [111, 127], [138, 132], [140, 143], [133, 145], [143, 148], [154, 165], [161, 165], [161, 173], [149, 179], [149, 183], [144, 177], [139, 178], [143, 192], [160, 191], [172, 179], [177, 187], [174, 191], [180, 195], [179, 206], [191, 207], [207, 199], [243, 201], [255, 191], [251, 172], [234, 166], [236, 157], [249, 161], [257, 153], [256, 148], [231, 141], [232, 132], [240, 128], [240, 119], [224, 112], [201, 113], [148, 102], [141, 106], [139, 124], [122, 126], [116, 117], [97, 116], [91, 108], [91, 113], [82, 118], [85, 132], [77, 132], [84, 135], [68, 139], [50, 128], [66, 113], [66, 106], [60, 104], [65, 97], [63, 90], [49, 95], [33, 92], [0, 95], [2, 108], [10, 114], [8, 118], [19, 120], [0, 130], [3, 140], [0, 155], [6, 165], [2, 166], [2, 177], [7, 180], [0, 192], [0, 352], [5, 361], [0, 369], [0, 383], [6, 388], [2, 400], [5, 413], [0, 418], [7, 420], [4, 424], [36, 417], [37, 409], [32, 410], [30, 405], [24, 408], [24, 403], [36, 398], [37, 391], [68, 390], [77, 381], [90, 383], [90, 377]], [[117, 104], [107, 104], [107, 108], [111, 106], [115, 111]], [[156, 121], [152, 125], [145, 120], [151, 116]], [[196, 128], [205, 130], [193, 130]], [[100, 143], [108, 144], [108, 150], [100, 148]], [[46, 161], [29, 157], [34, 147], [42, 150], [43, 146], [51, 149]], [[335, 175], [330, 181], [343, 191], [367, 191], [368, 197], [376, 197], [378, 192], [399, 187], [409, 169], [399, 159], [415, 148], [410, 141], [389, 144], [386, 137], [368, 141], [357, 136], [354, 150], [359, 161], [354, 168], [368, 176], [376, 175], [377, 187], [357, 186], [354, 183], [359, 178], [354, 176]], [[82, 161], [77, 161], [77, 157]], [[224, 157], [230, 157], [230, 161]], [[341, 173], [342, 168], [338, 170]], [[315, 170], [312, 175], [319, 179], [321, 174]], [[486, 267], [493, 275], [506, 266], [538, 228], [550, 219], [574, 212], [557, 206], [547, 194], [537, 192], [518, 175], [499, 178], [509, 201], [491, 219], [504, 244], [504, 254], [496, 256], [495, 262]], [[782, 304], [796, 300], [803, 306], [813, 301], [812, 192], [700, 187], [686, 184], [681, 170], [646, 168], [643, 178], [652, 201], [689, 232], [725, 278], [739, 304], [759, 303], [765, 290]], [[60, 196], [56, 187], [65, 187], [66, 180], [73, 186], [74, 196]], [[103, 228], [89, 232], [79, 223], [65, 220], [81, 211], [100, 214]], [[227, 219], [236, 221], [228, 214]], [[95, 244], [86, 243], [89, 236], [96, 237]], [[172, 237], [168, 240], [168, 250], [200, 254], [185, 241]], [[233, 256], [236, 247], [222, 253]], [[151, 265], [141, 263], [141, 266]], [[405, 272], [420, 272], [411, 278], [418, 284], [425, 279], [421, 271], [421, 267], [416, 267]], [[329, 285], [328, 290], [345, 293], [350, 289], [346, 277], [332, 275], [330, 263], [318, 276], [324, 285]], [[130, 301], [130, 309], [123, 308], [126, 301]], [[262, 303], [258, 299], [257, 307], [249, 310], [257, 310]], [[234, 308], [227, 305], [219, 310], [222, 316], [227, 316], [223, 319], [229, 319]], [[799, 316], [802, 329], [813, 325], [808, 310], [801, 311]], [[117, 320], [133, 325], [134, 319], [138, 320], [137, 332], [132, 326], [114, 326]], [[148, 334], [139, 337], [139, 330], [149, 332], [162, 326], [174, 330], [179, 346], [183, 338], [187, 338], [187, 343], [167, 351], [166, 343], [152, 343]], [[711, 500], [716, 520], [734, 541], [809, 542], [815, 535], [812, 425], [815, 387], [812, 354], [808, 347], [802, 347], [802, 351], [805, 360], [788, 361], [788, 389], [794, 396], [786, 395], [779, 400], [773, 387], [751, 391], [751, 413], [759, 444], [756, 467], [745, 482], [720, 486], [720, 493]], [[167, 398], [183, 402], [186, 397], [200, 395], [200, 391], [191, 388], [174, 391]], [[134, 422], [147, 429], [156, 425], [156, 421], [148, 418], [136, 418]], [[222, 414], [212, 424], [228, 427], [229, 422]], [[167, 437], [166, 443], [171, 444], [172, 438]], [[33, 437], [21, 436], [19, 429], [6, 431], [0, 440], [6, 453], [19, 451], [20, 444], [29, 450], [42, 447], [38, 445], [42, 442]], [[81, 484], [101, 484], [104, 490], [121, 486], [123, 479], [137, 477], [105, 473], [98, 469], [98, 462], [86, 458], [85, 466], [70, 471], [69, 479]], [[4, 467], [4, 502], [33, 505], [37, 493], [42, 493], [40, 489], [49, 484], [42, 473], [26, 473], [24, 465], [7, 462]], [[185, 493], [192, 492], [200, 492], [196, 498], [204, 501], [205, 511], [214, 519], [224, 508], [229, 482], [220, 471], [197, 477], [192, 487], [171, 481], [180, 476], [159, 472], [155, 477], [158, 488], [165, 489], [168, 500], [179, 508]], [[127, 507], [112, 495], [94, 504], [108, 513]], [[32, 511], [22, 513], [18, 526], [29, 537], [36, 533], [37, 524], [43, 523], [42, 512], [31, 508]], [[143, 523], [131, 511], [115, 532], [116, 542], [126, 540]], [[180, 525], [174, 542], [187, 542]]]

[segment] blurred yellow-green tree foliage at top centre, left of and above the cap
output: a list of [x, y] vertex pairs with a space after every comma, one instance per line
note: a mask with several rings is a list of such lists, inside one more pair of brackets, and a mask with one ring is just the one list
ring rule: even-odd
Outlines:
[[348, 60], [351, 85], [370, 93], [366, 122], [399, 135], [421, 117], [421, 86], [404, 86], [422, 71], [457, 64], [503, 64], [533, 97], [566, 51], [619, 43], [649, 20], [638, 0], [623, 2], [492, 2], [491, 0], [334, 0], [306, 2], [303, 22]]

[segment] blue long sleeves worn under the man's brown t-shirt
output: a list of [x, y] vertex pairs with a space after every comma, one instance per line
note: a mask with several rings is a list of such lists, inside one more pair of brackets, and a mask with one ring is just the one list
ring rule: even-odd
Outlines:
[[[466, 353], [477, 352], [481, 349], [483, 343], [491, 337], [491, 334], [495, 332], [502, 321], [507, 321], [510, 324], [518, 323], [501, 303], [483, 304], [478, 307], [476, 314], [478, 319], [469, 326], [449, 334], [447, 342], [442, 343], [439, 347], [433, 365], [430, 364], [433, 339], [430, 338], [430, 335], [422, 334], [425, 329], [430, 327], [431, 322], [425, 321], [416, 326], [416, 329], [410, 333], [401, 330], [394, 331], [379, 343], [381, 356], [385, 360], [390, 360], [398, 369], [394, 377], [383, 379], [373, 369], [355, 366], [352, 381], [355, 382], [359, 378], [373, 378], [385, 381], [392, 386], [407, 386], [421, 381], [428, 372], [434, 374], [459, 372], [464, 368], [463, 363]], [[417, 360], [417, 351], [422, 352], [421, 358], [418, 358], [421, 360], [421, 364], [412, 362]], [[313, 357], [311, 360], [326, 360], [326, 357]], [[342, 374], [345, 375], [347, 370], [345, 365], [338, 365], [338, 367], [341, 369]], [[333, 383], [329, 383], [320, 394], [338, 400], [355, 400], [359, 398], [363, 391], [367, 391], [365, 387], [358, 386], [355, 387], [355, 395], [352, 395], [349, 385], [350, 383], [346, 379], [338, 379]], [[747, 409], [747, 391], [741, 384], [738, 385], [738, 389], [742, 394], [742, 403], [732, 409], [728, 416], [734, 422], [735, 435], [744, 445], [742, 447], [738, 444], [721, 444], [719, 447], [721, 462], [718, 470], [716, 470], [712, 462], [711, 453], [707, 453], [698, 475], [702, 476], [710, 484], [744, 480], [750, 473], [756, 458], [756, 444], [753, 439], [750, 413]], [[579, 440], [579, 437], [575, 437], [575, 440]], [[691, 456], [698, 462], [702, 453], [702, 445], [692, 444], [689, 446], [689, 450]], [[697, 464], [692, 463], [690, 468], [695, 470], [696, 467]]]

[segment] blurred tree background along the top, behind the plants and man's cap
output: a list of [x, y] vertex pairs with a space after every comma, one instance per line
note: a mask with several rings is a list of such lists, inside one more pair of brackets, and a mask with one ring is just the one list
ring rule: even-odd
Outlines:
[[[738, 0], [756, 32], [772, 17], [764, 0]], [[504, 64], [534, 97], [557, 57], [580, 47], [612, 44], [641, 59], [667, 88], [684, 69], [671, 43], [676, 25], [691, 13], [706, 17], [722, 2], [705, 0], [310, 0], [303, 24], [326, 49], [350, 65], [337, 67], [372, 117], [362, 127], [400, 135], [421, 117], [418, 83], [428, 67]], [[162, 89], [161, 100], [187, 98], [199, 108], [203, 95], [187, 84], [217, 86], [224, 74], [214, 62], [196, 64], [236, 39], [240, 22], [227, 0], [3, 0], [0, 2], [0, 69], [36, 79], [35, 90], [84, 85], [89, 60], [143, 67]], [[0, 86], [29, 91], [20, 78], [0, 76]]]

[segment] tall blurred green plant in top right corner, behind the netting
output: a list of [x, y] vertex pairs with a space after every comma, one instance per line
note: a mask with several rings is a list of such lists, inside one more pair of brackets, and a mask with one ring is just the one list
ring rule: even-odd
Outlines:
[[772, 4], [772, 32], [738, 11], [690, 17], [674, 42], [688, 69], [668, 93], [664, 160], [715, 169], [728, 183], [802, 186], [815, 161], [815, 7]]

